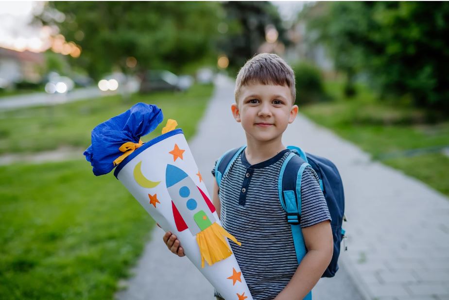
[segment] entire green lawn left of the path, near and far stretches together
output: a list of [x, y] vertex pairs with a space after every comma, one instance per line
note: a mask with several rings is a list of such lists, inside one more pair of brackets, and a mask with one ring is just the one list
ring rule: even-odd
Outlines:
[[[157, 104], [164, 122], [176, 119], [189, 138], [211, 92], [211, 86], [195, 86], [186, 94], [133, 96], [128, 103], [116, 96], [80, 101], [54, 107], [52, 120], [48, 108], [2, 113], [1, 128], [11, 134], [1, 145], [20, 141], [13, 134], [19, 133], [29, 140], [21, 151], [84, 148], [95, 125], [138, 101]], [[45, 124], [51, 130], [43, 133]], [[0, 199], [2, 300], [112, 299], [154, 226], [112, 174], [94, 177], [85, 160], [0, 167]]]

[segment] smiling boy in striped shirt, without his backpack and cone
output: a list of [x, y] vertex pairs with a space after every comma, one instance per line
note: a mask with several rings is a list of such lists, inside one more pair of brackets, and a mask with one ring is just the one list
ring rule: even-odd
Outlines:
[[[298, 112], [294, 72], [276, 54], [256, 55], [237, 75], [235, 99], [231, 110], [242, 123], [247, 147], [220, 189], [214, 183], [213, 204], [224, 229], [242, 242], [230, 245], [253, 299], [300, 300], [328, 267], [333, 240], [326, 200], [311, 168], [301, 184], [300, 226], [308, 251], [299, 266], [278, 197], [277, 179], [290, 153], [282, 133]], [[167, 232], [163, 240], [173, 253], [184, 256], [174, 234]]]

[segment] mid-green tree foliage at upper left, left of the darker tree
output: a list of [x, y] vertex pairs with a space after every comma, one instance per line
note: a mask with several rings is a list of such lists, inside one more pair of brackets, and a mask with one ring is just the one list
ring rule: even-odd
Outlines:
[[[53, 9], [63, 22], [49, 18]], [[126, 58], [137, 59], [137, 71], [167, 68], [213, 57], [221, 6], [218, 2], [48, 2], [39, 19], [55, 23], [68, 41], [82, 48], [71, 62], [95, 78], [111, 67], [132, 71]]]

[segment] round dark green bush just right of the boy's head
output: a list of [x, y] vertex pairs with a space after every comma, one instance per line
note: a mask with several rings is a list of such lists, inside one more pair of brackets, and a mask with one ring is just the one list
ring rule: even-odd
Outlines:
[[297, 103], [327, 100], [320, 70], [305, 62], [293, 64]]

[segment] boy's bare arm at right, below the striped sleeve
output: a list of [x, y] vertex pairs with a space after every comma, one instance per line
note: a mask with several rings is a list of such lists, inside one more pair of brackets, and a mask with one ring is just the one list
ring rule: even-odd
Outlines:
[[302, 228], [307, 253], [290, 282], [275, 300], [302, 300], [311, 291], [328, 267], [333, 254], [330, 221]]

